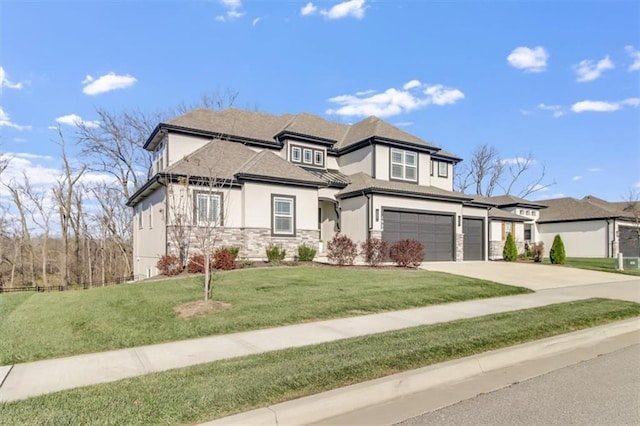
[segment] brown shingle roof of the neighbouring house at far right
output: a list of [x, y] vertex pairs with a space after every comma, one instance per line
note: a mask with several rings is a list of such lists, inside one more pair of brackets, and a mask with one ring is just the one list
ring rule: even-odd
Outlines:
[[582, 200], [571, 197], [540, 200], [547, 206], [540, 211], [538, 223], [572, 222], [596, 219], [634, 219], [631, 212], [624, 211], [618, 203], [610, 203], [596, 197], [587, 196]]

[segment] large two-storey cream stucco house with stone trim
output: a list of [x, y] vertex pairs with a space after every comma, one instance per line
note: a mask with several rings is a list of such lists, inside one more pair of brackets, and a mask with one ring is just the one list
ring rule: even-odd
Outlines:
[[198, 230], [264, 258], [338, 232], [355, 242], [418, 239], [425, 260], [486, 260], [491, 204], [453, 191], [455, 155], [376, 117], [347, 125], [311, 114], [196, 109], [144, 144], [152, 177], [134, 209], [136, 275], [197, 251]]

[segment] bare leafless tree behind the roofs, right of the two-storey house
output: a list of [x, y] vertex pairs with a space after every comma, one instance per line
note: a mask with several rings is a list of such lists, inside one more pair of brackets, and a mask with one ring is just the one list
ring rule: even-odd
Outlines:
[[[491, 197], [497, 188], [505, 195], [514, 194], [527, 197], [534, 192], [541, 191], [553, 183], [543, 183], [546, 168], [542, 165], [540, 171], [534, 171], [537, 164], [531, 154], [513, 159], [503, 159], [498, 150], [488, 144], [477, 147], [467, 163], [458, 166], [455, 176], [455, 188], [466, 192], [473, 188], [476, 195]], [[527, 182], [525, 179], [533, 175]], [[516, 192], [516, 188], [520, 188]]]

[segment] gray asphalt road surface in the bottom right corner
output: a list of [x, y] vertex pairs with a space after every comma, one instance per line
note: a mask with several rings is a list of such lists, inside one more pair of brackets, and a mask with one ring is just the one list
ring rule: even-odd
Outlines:
[[397, 423], [480, 424], [640, 424], [640, 344]]

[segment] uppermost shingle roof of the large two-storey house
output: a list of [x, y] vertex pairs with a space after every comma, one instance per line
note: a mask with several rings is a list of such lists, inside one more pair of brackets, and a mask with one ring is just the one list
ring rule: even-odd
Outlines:
[[194, 132], [206, 137], [240, 139], [269, 146], [279, 144], [280, 135], [306, 136], [343, 150], [374, 138], [387, 143], [398, 143], [422, 148], [436, 153], [439, 158], [461, 161], [455, 155], [405, 132], [377, 117], [368, 117], [355, 124], [342, 124], [307, 113], [273, 115], [237, 108], [210, 110], [198, 108], [179, 117], [160, 123], [144, 144], [154, 149], [161, 138], [161, 131]]

